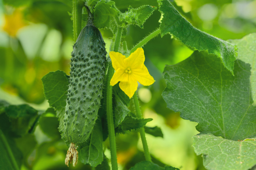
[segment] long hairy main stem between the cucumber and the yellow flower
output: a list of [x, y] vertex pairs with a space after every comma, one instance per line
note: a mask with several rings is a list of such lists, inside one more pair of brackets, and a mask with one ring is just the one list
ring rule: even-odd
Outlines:
[[[123, 28], [118, 28], [115, 38], [114, 51], [118, 52], [121, 42]], [[111, 154], [111, 165], [112, 170], [117, 170], [117, 157], [116, 157], [116, 137], [115, 137], [115, 127], [114, 127], [114, 119], [113, 119], [113, 110], [112, 110], [112, 86], [110, 85], [110, 79], [114, 74], [114, 68], [112, 67], [112, 63], [108, 60], [108, 73], [106, 79], [106, 108], [107, 108], [107, 121], [108, 121], [108, 134], [109, 134], [109, 145], [110, 145], [110, 154]]]

